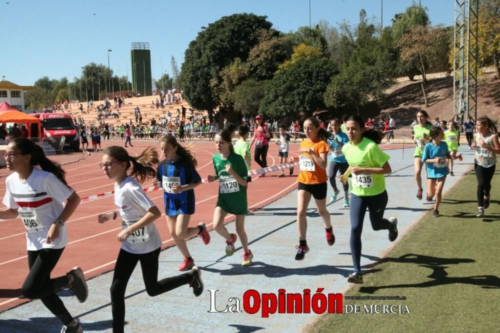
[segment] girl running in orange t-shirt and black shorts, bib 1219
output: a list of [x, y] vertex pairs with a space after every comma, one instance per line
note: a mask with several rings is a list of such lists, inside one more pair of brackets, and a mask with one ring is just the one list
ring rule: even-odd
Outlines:
[[[335, 236], [330, 223], [330, 213], [326, 210], [326, 158], [328, 144], [326, 140], [331, 134], [324, 128], [319, 127], [319, 121], [315, 117], [309, 117], [304, 121], [304, 133], [306, 138], [300, 142], [298, 150], [300, 172], [298, 173], [297, 192], [297, 230], [299, 244], [296, 246], [295, 260], [302, 260], [305, 253], [309, 251], [306, 241], [307, 232], [307, 206], [311, 196], [316, 203], [317, 212], [324, 222], [326, 242], [329, 246], [335, 242]], [[293, 160], [293, 159], [291, 159]]]

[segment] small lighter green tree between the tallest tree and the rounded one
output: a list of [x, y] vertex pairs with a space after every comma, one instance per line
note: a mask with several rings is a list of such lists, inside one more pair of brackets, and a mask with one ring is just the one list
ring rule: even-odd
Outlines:
[[238, 84], [232, 93], [234, 110], [241, 114], [256, 115], [268, 84], [269, 80], [256, 80], [254, 78]]

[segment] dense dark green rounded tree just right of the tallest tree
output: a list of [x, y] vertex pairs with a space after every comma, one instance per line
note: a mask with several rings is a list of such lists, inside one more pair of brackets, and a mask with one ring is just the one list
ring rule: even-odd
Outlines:
[[336, 68], [326, 58], [303, 58], [281, 69], [269, 82], [260, 112], [275, 117], [311, 115], [322, 108], [323, 92]]

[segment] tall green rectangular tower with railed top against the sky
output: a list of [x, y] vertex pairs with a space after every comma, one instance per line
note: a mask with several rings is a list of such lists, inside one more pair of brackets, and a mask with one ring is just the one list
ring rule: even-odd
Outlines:
[[151, 52], [149, 43], [133, 42], [130, 50], [132, 89], [141, 96], [152, 95]]

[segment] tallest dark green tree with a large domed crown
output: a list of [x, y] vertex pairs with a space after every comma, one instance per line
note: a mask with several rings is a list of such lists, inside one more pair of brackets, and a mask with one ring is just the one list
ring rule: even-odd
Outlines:
[[250, 50], [260, 41], [261, 30], [269, 30], [266, 16], [233, 14], [208, 24], [192, 40], [181, 66], [183, 96], [193, 107], [208, 111], [210, 121], [220, 96], [213, 89], [220, 82], [220, 70], [234, 58], [246, 61]]

